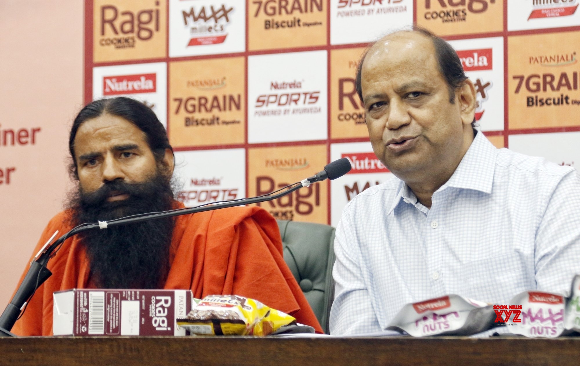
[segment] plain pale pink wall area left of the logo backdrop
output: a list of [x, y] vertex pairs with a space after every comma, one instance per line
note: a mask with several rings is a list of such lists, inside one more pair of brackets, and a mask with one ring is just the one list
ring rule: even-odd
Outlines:
[[[82, 107], [83, 2], [0, 0], [0, 308], [70, 180], [67, 130]], [[4, 131], [20, 132], [20, 142]], [[9, 182], [6, 179], [10, 170]]]

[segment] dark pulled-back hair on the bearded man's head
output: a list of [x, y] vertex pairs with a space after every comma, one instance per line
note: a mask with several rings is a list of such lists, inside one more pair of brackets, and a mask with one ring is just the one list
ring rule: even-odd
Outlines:
[[81, 112], [77, 114], [73, 121], [73, 127], [71, 127], [71, 133], [68, 137], [68, 150], [73, 162], [70, 163], [68, 171], [73, 178], [78, 179], [77, 161], [74, 153], [74, 139], [77, 136], [78, 128], [85, 121], [95, 119], [106, 113], [111, 114], [111, 116], [122, 117], [143, 131], [147, 144], [157, 161], [160, 161], [165, 156], [165, 149], [173, 151], [171, 145], [169, 145], [169, 139], [163, 124], [150, 107], [125, 96], [97, 99], [81, 109]]

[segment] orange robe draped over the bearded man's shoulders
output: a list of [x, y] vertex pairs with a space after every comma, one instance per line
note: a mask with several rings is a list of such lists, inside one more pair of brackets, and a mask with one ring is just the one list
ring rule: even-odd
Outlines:
[[[183, 207], [183, 205], [180, 205]], [[72, 227], [63, 211], [50, 220], [34, 249]], [[32, 255], [34, 255], [32, 254]], [[177, 216], [165, 289], [191, 289], [193, 296], [241, 295], [284, 311], [302, 324], [322, 328], [282, 256], [276, 220], [259, 207], [233, 207]], [[79, 236], [67, 239], [50, 259], [53, 275], [36, 291], [12, 328], [17, 335], [52, 335], [52, 293], [90, 288], [89, 263]], [[26, 274], [28, 267], [24, 271]], [[24, 278], [22, 275], [20, 281]]]

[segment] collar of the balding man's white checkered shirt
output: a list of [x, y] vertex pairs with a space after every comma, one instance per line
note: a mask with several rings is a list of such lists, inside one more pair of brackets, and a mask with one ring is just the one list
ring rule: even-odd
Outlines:
[[[448, 186], [462, 189], [474, 189], [485, 193], [491, 193], [491, 188], [494, 182], [495, 159], [497, 156], [497, 149], [492, 143], [485, 138], [483, 133], [477, 132], [472, 144], [467, 149], [463, 156], [461, 163], [455, 169], [451, 178], [437, 191], [441, 191]], [[397, 177], [393, 179], [398, 180], [397, 195], [393, 200], [393, 204], [387, 211], [389, 216], [398, 206], [401, 201], [405, 203], [415, 204], [417, 198], [411, 188], [405, 184], [404, 181]]]

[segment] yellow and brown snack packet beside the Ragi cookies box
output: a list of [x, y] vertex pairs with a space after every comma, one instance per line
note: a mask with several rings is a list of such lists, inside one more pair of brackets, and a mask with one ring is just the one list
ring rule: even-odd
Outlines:
[[290, 315], [236, 295], [206, 296], [187, 317], [177, 319], [177, 325], [195, 335], [265, 336], [290, 324], [296, 324]]

